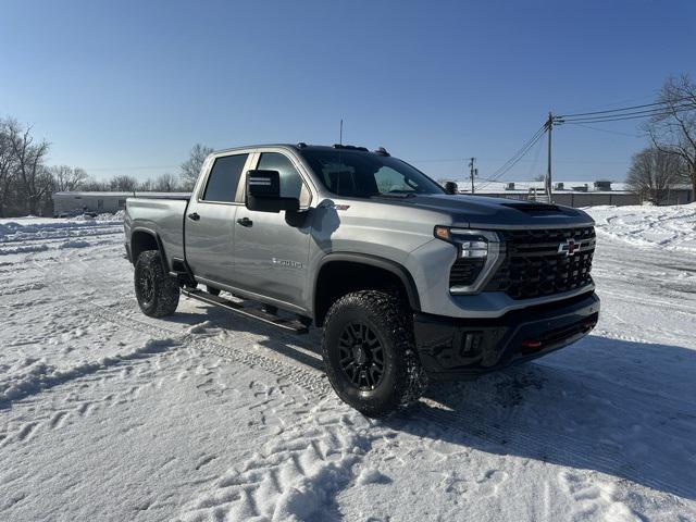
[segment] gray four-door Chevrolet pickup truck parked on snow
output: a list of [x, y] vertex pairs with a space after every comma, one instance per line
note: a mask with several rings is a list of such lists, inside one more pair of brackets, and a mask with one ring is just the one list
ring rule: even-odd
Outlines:
[[595, 326], [587, 214], [451, 192], [383, 148], [215, 152], [189, 197], [127, 200], [138, 303], [160, 318], [184, 294], [321, 327], [332, 386], [370, 417], [430, 380], [526, 361]]

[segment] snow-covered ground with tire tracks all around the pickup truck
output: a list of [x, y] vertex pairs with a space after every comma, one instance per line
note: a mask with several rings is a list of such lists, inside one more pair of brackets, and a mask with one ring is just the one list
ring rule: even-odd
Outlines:
[[0, 520], [696, 520], [696, 206], [595, 208], [594, 334], [370, 421], [296, 337], [142, 315], [116, 220], [0, 220]]

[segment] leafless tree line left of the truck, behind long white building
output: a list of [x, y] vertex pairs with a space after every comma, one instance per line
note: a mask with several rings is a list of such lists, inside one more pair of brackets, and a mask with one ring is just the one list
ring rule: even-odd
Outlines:
[[96, 179], [84, 169], [70, 165], [48, 165], [50, 144], [33, 135], [32, 125], [12, 117], [0, 117], [0, 217], [17, 215], [51, 215], [52, 195], [67, 190], [85, 191], [189, 191], [210, 147], [197, 144], [179, 173], [163, 173], [139, 181], [116, 175]]

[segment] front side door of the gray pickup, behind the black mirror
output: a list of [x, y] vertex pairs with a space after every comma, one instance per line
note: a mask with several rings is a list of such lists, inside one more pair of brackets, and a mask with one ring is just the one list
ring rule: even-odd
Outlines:
[[[299, 198], [300, 209], [308, 212], [311, 192], [299, 164], [282, 150], [261, 150], [256, 158], [252, 169], [278, 171], [281, 196]], [[244, 191], [244, 182], [240, 188]], [[310, 219], [293, 225], [285, 211], [260, 212], [239, 206], [235, 221], [236, 286], [281, 301], [279, 304], [304, 309]]]

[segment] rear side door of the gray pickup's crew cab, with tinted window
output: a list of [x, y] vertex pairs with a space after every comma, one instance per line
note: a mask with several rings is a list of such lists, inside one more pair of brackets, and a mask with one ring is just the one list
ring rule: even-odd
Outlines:
[[215, 157], [191, 194], [184, 216], [184, 240], [186, 260], [199, 282], [234, 282], [237, 190], [250, 161], [248, 152]]

